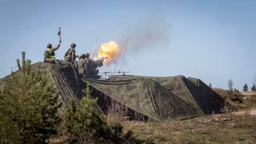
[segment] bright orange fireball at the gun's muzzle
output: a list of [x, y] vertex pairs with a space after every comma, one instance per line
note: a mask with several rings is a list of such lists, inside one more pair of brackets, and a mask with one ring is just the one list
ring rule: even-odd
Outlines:
[[93, 59], [99, 60], [102, 57], [108, 56], [108, 58], [104, 60], [104, 62], [110, 64], [117, 59], [117, 56], [119, 55], [119, 51], [120, 49], [116, 42], [114, 41], [106, 42], [101, 44], [98, 56], [94, 57]]

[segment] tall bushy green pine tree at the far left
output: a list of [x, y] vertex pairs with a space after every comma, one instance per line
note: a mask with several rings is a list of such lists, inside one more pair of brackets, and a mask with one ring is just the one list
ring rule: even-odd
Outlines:
[[31, 72], [30, 63], [22, 52], [19, 71], [11, 72], [8, 86], [0, 92], [0, 140], [4, 143], [45, 144], [57, 132], [56, 112], [61, 105], [53, 95], [55, 89], [44, 72]]

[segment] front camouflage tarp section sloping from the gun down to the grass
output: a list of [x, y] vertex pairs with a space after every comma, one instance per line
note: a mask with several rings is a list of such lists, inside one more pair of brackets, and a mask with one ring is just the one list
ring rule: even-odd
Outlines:
[[[160, 117], [186, 119], [204, 115], [195, 101], [194, 103], [185, 102], [172, 91], [168, 91], [161, 84], [148, 78], [117, 81], [89, 78], [82, 78], [82, 80], [121, 104], [152, 119], [160, 120]], [[164, 109], [170, 111], [162, 113]]]

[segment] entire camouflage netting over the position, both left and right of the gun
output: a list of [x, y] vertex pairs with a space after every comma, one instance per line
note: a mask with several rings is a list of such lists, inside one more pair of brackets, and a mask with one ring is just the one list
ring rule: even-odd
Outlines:
[[[186, 119], [220, 111], [224, 100], [196, 78], [115, 76], [110, 79], [81, 78], [72, 64], [34, 63], [33, 71], [46, 70], [62, 102], [71, 97], [82, 98], [85, 83], [98, 93], [149, 118], [159, 120]], [[0, 88], [8, 76], [0, 80]], [[81, 81], [82, 80], [82, 81]], [[98, 94], [101, 95], [98, 95]], [[99, 105], [104, 105], [103, 102]], [[168, 111], [166, 111], [166, 109]], [[163, 113], [164, 111], [164, 113]]]

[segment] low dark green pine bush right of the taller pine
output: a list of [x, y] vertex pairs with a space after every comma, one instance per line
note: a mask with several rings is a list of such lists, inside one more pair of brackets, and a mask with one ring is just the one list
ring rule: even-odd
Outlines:
[[[116, 144], [141, 144], [143, 140], [136, 140], [132, 131], [123, 133], [123, 127], [119, 123], [108, 125], [106, 119], [96, 111], [97, 98], [90, 97], [89, 85], [79, 105], [75, 100], [70, 102], [64, 112], [63, 124], [59, 131], [68, 136], [64, 143], [86, 144], [108, 142]], [[152, 143], [148, 141], [148, 143]]]

